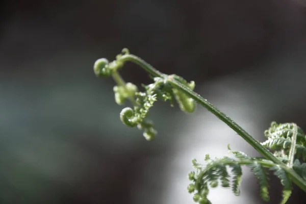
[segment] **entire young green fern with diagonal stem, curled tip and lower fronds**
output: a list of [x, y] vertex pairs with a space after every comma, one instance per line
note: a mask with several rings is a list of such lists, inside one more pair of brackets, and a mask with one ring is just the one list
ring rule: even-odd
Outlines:
[[[125, 83], [121, 78], [118, 71], [128, 61], [139, 65], [152, 77], [154, 82], [143, 85], [143, 91], [139, 91], [133, 83]], [[206, 155], [204, 165], [197, 163], [195, 159], [192, 160], [195, 171], [188, 175], [192, 183], [187, 189], [189, 193], [193, 194], [195, 202], [211, 203], [208, 198], [209, 190], [216, 188], [219, 184], [224, 188], [231, 187], [233, 193], [238, 196], [242, 166], [249, 167], [259, 180], [260, 196], [265, 201], [269, 200], [268, 170], [274, 172], [284, 187], [281, 203], [288, 201], [293, 183], [306, 192], [306, 163], [304, 162], [306, 159], [306, 137], [295, 123], [277, 124], [272, 122], [269, 129], [265, 131], [267, 140], [260, 143], [230, 117], [195, 93], [193, 81], [188, 83], [178, 75], [161, 73], [139, 57], [131, 55], [126, 48], [112, 62], [105, 58], [98, 59], [94, 64], [94, 72], [97, 77], [113, 77], [117, 84], [114, 87], [116, 103], [123, 105], [126, 100], [130, 100], [133, 105], [132, 108], [122, 109], [121, 121], [130, 127], [137, 126], [139, 130], [143, 131], [146, 140], [154, 139], [157, 134], [154, 124], [148, 120], [149, 109], [155, 101], [168, 100], [172, 107], [176, 101], [180, 109], [188, 113], [194, 112], [196, 103], [198, 103], [230, 126], [263, 156], [261, 158], [251, 157], [243, 152], [231, 150], [228, 145], [228, 150], [233, 154], [233, 158], [211, 159], [209, 155]], [[230, 174], [232, 174], [232, 178]]]

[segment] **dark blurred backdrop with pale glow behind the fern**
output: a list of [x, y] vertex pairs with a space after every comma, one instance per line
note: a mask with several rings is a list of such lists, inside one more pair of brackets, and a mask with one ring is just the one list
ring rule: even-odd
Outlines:
[[[258, 156], [206, 109], [158, 103], [159, 134], [124, 126], [112, 79], [96, 59], [123, 47], [196, 91], [264, 141], [271, 121], [306, 130], [304, 0], [11, 0], [0, 5], [0, 203], [191, 204], [191, 160], [232, 149]], [[150, 83], [133, 64], [126, 81]], [[127, 106], [129, 104], [126, 104]], [[271, 201], [282, 186], [271, 177]], [[263, 203], [245, 169], [241, 196], [214, 189], [213, 203]], [[304, 203], [297, 187], [288, 203]]]

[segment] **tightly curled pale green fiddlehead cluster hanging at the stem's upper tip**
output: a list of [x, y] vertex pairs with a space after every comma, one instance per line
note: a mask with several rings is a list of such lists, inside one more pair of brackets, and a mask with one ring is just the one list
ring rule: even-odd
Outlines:
[[[124, 48], [122, 54], [117, 55], [113, 62], [109, 62], [105, 58], [98, 59], [94, 64], [94, 73], [97, 77], [113, 77], [117, 83], [113, 88], [116, 103], [123, 105], [129, 99], [133, 105], [133, 108], [127, 107], [121, 111], [120, 119], [122, 123], [130, 127], [137, 126], [139, 130], [143, 130], [143, 136], [147, 140], [152, 140], [155, 138], [157, 131], [154, 129], [153, 123], [147, 120], [147, 116], [155, 101], [158, 99], [169, 100], [171, 106], [173, 106], [175, 99], [181, 110], [185, 112], [194, 111], [195, 101], [182, 91], [175, 89], [169, 83], [168, 78], [155, 77], [154, 83], [143, 86], [143, 92], [139, 91], [135, 84], [125, 83], [118, 70], [123, 66], [123, 59], [126, 56], [129, 56], [129, 50]], [[170, 80], [182, 83], [191, 90], [195, 87], [194, 82], [187, 83], [186, 80], [177, 75], [173, 74], [168, 77]]]

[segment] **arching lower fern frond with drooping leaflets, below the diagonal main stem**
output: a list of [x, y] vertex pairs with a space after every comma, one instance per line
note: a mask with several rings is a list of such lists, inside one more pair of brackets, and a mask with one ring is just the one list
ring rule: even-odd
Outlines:
[[[189, 180], [193, 182], [188, 187], [189, 193], [194, 193], [194, 200], [199, 203], [210, 203], [208, 194], [210, 188], [215, 188], [218, 183], [224, 188], [231, 187], [233, 193], [240, 195], [240, 184], [242, 177], [242, 166], [247, 166], [251, 169], [259, 181], [260, 196], [264, 201], [269, 201], [269, 172], [271, 170], [281, 180], [284, 186], [283, 199], [281, 203], [286, 203], [291, 195], [292, 181], [287, 175], [286, 171], [279, 165], [264, 158], [250, 157], [241, 151], [232, 151], [228, 146], [230, 152], [235, 158], [223, 157], [211, 159], [209, 155], [206, 156], [206, 165], [200, 165], [193, 160], [193, 166], [196, 172], [189, 173]], [[287, 158], [287, 159], [286, 159]], [[279, 158], [285, 161], [288, 157]], [[294, 170], [306, 179], [306, 163], [301, 164], [296, 160], [293, 166]], [[231, 173], [228, 172], [231, 169]], [[232, 175], [230, 175], [232, 174]]]

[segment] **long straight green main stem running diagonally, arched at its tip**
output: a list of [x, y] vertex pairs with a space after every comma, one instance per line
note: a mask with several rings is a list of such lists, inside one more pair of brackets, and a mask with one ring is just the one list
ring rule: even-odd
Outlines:
[[238, 125], [234, 120], [225, 115], [219, 109], [217, 109], [213, 104], [209, 103], [207, 99], [204, 99], [196, 92], [192, 91], [188, 87], [184, 86], [182, 83], [174, 80], [171, 75], [164, 74], [150, 64], [140, 59], [135, 55], [123, 55], [120, 57], [120, 62], [133, 62], [140, 67], [142, 67], [145, 71], [151, 74], [153, 77], [160, 77], [164, 80], [168, 81], [173, 87], [181, 90], [183, 93], [188, 95], [190, 98], [194, 99], [198, 104], [205, 107], [208, 111], [217, 116], [220, 120], [222, 120], [225, 124], [231, 127], [238, 135], [240, 135], [247, 143], [249, 143], [254, 149], [256, 149], [263, 157], [274, 162], [281, 166], [291, 177], [293, 183], [295, 183], [299, 188], [306, 192], [306, 181], [304, 181], [292, 168], [286, 166], [282, 161], [278, 160], [266, 147], [260, 144], [259, 141], [254, 139], [250, 134], [248, 134], [240, 125]]

